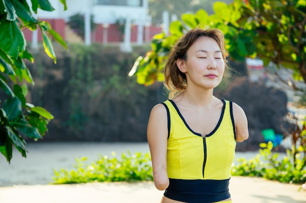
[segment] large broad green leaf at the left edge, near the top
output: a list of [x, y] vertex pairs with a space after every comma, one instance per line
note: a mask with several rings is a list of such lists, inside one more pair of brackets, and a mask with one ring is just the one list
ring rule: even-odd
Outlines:
[[25, 50], [25, 39], [16, 21], [4, 20], [0, 23], [0, 47], [4, 53], [17, 58]]

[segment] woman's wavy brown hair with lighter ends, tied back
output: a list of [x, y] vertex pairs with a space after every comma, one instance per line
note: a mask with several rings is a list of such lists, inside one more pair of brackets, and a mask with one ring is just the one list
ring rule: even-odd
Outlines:
[[172, 47], [171, 51], [168, 54], [168, 59], [164, 68], [164, 85], [169, 91], [169, 99], [172, 99], [185, 91], [187, 86], [186, 75], [180, 72], [176, 65], [176, 61], [179, 58], [187, 60], [188, 49], [200, 37], [211, 37], [217, 41], [225, 63], [225, 70], [229, 68], [225, 55], [224, 36], [219, 29], [194, 28], [192, 30], [189, 30], [176, 41], [175, 45]]

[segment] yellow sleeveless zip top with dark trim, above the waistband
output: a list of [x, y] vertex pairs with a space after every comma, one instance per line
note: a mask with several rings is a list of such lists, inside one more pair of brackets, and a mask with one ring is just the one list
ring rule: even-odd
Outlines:
[[232, 102], [222, 101], [219, 122], [205, 137], [190, 129], [172, 100], [163, 103], [168, 113], [167, 172], [170, 179], [230, 178], [236, 148], [235, 123]]

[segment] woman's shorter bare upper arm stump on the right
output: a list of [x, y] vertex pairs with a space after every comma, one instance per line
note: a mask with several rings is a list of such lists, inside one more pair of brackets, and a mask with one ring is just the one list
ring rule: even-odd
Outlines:
[[243, 109], [233, 102], [233, 115], [236, 127], [236, 141], [243, 142], [249, 137], [247, 118]]

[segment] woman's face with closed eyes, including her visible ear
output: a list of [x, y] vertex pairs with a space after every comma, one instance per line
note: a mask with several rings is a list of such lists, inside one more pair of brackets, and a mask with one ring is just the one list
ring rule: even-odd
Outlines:
[[187, 59], [178, 59], [177, 66], [186, 74], [187, 86], [205, 89], [217, 87], [225, 69], [221, 49], [211, 37], [200, 37], [187, 51]]

